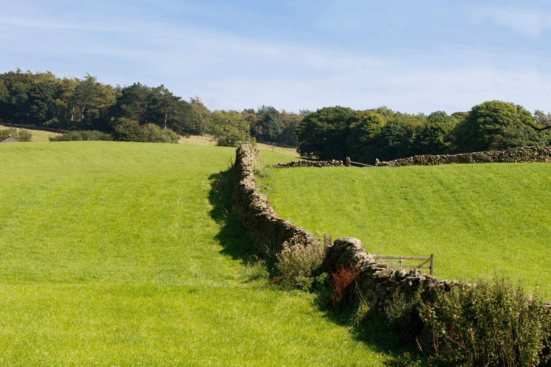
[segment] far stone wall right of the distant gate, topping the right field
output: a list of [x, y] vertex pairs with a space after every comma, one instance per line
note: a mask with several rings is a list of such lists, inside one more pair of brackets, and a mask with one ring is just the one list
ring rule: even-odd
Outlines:
[[420, 155], [409, 158], [400, 158], [388, 162], [380, 162], [377, 166], [430, 166], [449, 165], [451, 163], [524, 163], [544, 162], [551, 163], [551, 147], [522, 146], [506, 150], [474, 152], [463, 154]]

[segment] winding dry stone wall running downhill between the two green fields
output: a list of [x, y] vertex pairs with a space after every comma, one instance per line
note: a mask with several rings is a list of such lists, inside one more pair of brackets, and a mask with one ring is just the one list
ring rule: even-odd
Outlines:
[[[234, 210], [255, 247], [278, 253], [283, 249], [282, 244], [292, 237], [307, 243], [315, 242], [314, 235], [306, 229], [279, 218], [267, 196], [258, 193], [253, 167], [260, 164], [260, 152], [251, 144], [241, 145], [237, 149]], [[406, 295], [419, 290], [424, 299], [429, 299], [436, 289], [449, 291], [452, 286], [459, 284], [456, 281], [439, 280], [418, 269], [392, 269], [386, 262], [377, 261], [376, 256], [369, 254], [361, 241], [353, 237], [339, 238], [329, 245], [325, 265], [332, 271], [341, 269], [341, 266], [355, 267], [359, 272], [356, 282], [360, 291], [381, 309], [396, 290]]]

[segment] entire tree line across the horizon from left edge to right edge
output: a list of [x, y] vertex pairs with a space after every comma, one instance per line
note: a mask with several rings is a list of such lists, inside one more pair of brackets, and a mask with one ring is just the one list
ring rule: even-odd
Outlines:
[[[0, 122], [71, 130], [56, 140], [101, 139], [177, 143], [180, 136], [212, 134], [217, 145], [266, 140], [299, 146], [309, 158], [372, 164], [421, 154], [455, 154], [515, 146], [550, 145], [551, 116], [487, 101], [468, 112], [408, 114], [385, 106], [315, 112], [272, 106], [209, 111], [200, 98], [185, 100], [164, 85], [112, 86], [87, 74], [59, 78], [51, 72], [0, 74]], [[530, 126], [529, 126], [530, 125]], [[78, 133], [94, 130], [98, 133]]]

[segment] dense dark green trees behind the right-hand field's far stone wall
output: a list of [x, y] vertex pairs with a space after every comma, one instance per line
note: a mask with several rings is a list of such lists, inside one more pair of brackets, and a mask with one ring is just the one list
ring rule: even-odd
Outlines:
[[308, 114], [296, 127], [298, 152], [305, 157], [344, 159], [373, 164], [423, 154], [457, 154], [507, 147], [550, 145], [551, 116], [524, 107], [487, 101], [468, 112], [443, 111], [428, 116], [395, 112], [385, 106], [357, 111], [325, 107]]

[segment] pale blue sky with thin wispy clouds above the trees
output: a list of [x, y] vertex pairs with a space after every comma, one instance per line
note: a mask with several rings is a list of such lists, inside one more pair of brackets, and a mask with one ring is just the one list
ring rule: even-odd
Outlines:
[[551, 1], [0, 1], [0, 70], [164, 84], [210, 109], [551, 111]]

